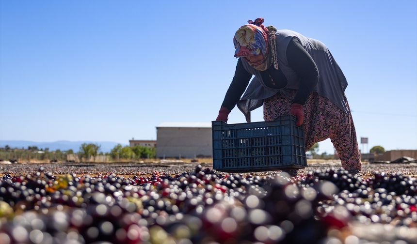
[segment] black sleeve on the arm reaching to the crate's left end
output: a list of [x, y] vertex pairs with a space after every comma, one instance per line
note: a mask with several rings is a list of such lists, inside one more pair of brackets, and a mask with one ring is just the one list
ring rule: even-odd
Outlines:
[[235, 76], [230, 83], [229, 89], [227, 89], [222, 107], [226, 107], [229, 111], [232, 111], [232, 109], [236, 106], [236, 103], [241, 98], [241, 95], [246, 90], [251, 77], [252, 74], [248, 73], [243, 68], [242, 61], [239, 59], [238, 64], [236, 65]]

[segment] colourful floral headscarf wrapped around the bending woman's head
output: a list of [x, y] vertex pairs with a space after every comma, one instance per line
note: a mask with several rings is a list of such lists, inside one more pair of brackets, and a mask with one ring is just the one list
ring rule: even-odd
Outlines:
[[[274, 48], [276, 29], [272, 26], [266, 28], [262, 25], [263, 21], [263, 18], [257, 18], [255, 21], [249, 20], [248, 25], [241, 26], [236, 31], [233, 38], [233, 43], [236, 48], [235, 57], [243, 57], [257, 70], [268, 69], [272, 62], [274, 63], [275, 69], [278, 69]], [[271, 41], [273, 41], [273, 44]], [[272, 51], [269, 51], [269, 43]], [[263, 59], [257, 62], [251, 62], [246, 58], [254, 55], [262, 55]]]

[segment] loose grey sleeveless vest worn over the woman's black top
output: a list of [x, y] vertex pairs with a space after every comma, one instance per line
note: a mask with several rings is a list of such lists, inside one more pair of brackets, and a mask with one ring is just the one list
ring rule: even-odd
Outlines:
[[287, 60], [287, 47], [292, 38], [300, 40], [301, 46], [310, 54], [319, 70], [319, 82], [313, 89], [313, 92], [318, 92], [319, 95], [327, 97], [333, 104], [347, 113], [348, 109], [345, 104], [344, 92], [348, 82], [329, 49], [320, 41], [307, 38], [295, 31], [279, 30], [276, 32], [275, 38], [278, 66], [284, 76], [286, 76], [288, 84], [280, 90], [267, 87], [262, 80], [260, 72], [249, 65], [247, 61], [241, 59], [245, 70], [255, 76], [237, 104], [238, 108], [245, 115], [246, 121], [250, 122], [250, 112], [261, 107], [263, 99], [272, 97], [278, 92], [280, 95], [286, 96], [288, 89], [297, 90], [299, 88], [300, 79], [295, 71], [289, 67]]

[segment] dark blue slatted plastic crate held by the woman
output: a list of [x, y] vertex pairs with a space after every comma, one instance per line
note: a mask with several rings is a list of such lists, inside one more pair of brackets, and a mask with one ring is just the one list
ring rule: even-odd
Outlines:
[[213, 168], [224, 172], [256, 172], [307, 166], [303, 129], [292, 115], [273, 122], [211, 122]]

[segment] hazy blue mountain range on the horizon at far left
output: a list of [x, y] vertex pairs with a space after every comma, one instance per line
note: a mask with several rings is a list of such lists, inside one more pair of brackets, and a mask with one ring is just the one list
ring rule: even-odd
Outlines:
[[[27, 149], [29, 146], [36, 146], [39, 149], [49, 148], [49, 151], [55, 151], [57, 149], [61, 151], [66, 151], [72, 149], [74, 152], [78, 152], [80, 150], [80, 146], [82, 143], [97, 143], [101, 145], [100, 151], [101, 152], [110, 152], [112, 148], [119, 144], [113, 141], [54, 141], [54, 142], [38, 142], [38, 141], [24, 141], [24, 140], [0, 140], [0, 147], [4, 147], [9, 145], [10, 148], [25, 148]], [[122, 144], [122, 143], [120, 143]], [[125, 146], [127, 144], [122, 144]]]

